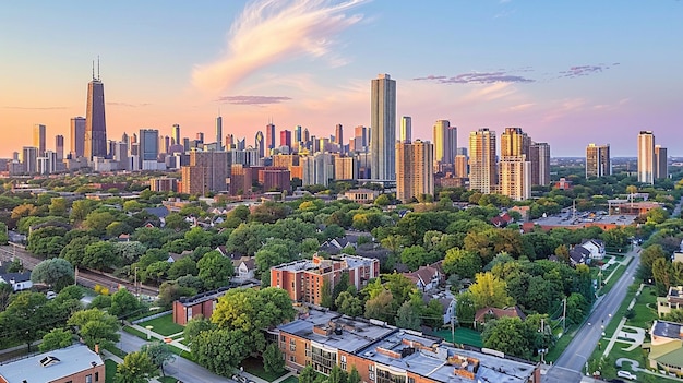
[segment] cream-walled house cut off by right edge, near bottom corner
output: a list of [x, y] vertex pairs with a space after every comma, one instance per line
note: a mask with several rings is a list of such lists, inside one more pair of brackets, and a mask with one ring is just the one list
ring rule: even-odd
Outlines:
[[650, 330], [652, 342], [647, 356], [649, 367], [669, 373], [683, 373], [683, 324], [655, 321]]

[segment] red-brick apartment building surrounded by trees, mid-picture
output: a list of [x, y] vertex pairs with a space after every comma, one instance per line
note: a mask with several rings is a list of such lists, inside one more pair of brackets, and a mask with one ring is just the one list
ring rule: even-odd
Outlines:
[[345, 255], [325, 260], [313, 255], [312, 260], [301, 260], [271, 267], [271, 286], [287, 290], [296, 302], [320, 306], [323, 283], [331, 288], [339, 283], [343, 273], [348, 273], [349, 284], [362, 289], [368, 280], [380, 276], [380, 261], [372, 258]]

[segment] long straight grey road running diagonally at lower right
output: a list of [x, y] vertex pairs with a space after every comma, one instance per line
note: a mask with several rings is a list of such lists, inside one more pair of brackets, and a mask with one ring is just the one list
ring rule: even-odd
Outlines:
[[607, 326], [610, 320], [614, 319], [613, 314], [626, 297], [628, 286], [633, 284], [635, 271], [640, 263], [639, 250], [639, 247], [634, 247], [631, 252], [625, 254], [633, 258], [626, 272], [612, 286], [612, 289], [596, 302], [595, 310], [588, 320], [577, 331], [572, 343], [546, 374], [544, 383], [578, 382], [580, 374], [585, 374], [586, 361], [602, 337], [603, 326]]

